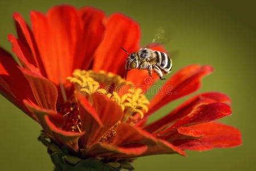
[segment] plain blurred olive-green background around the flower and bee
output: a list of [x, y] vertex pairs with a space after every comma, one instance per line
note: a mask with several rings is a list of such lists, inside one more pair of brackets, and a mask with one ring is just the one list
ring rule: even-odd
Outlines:
[[[221, 91], [233, 100], [233, 115], [222, 121], [241, 130], [242, 146], [206, 152], [188, 151], [188, 157], [177, 154], [142, 157], [134, 163], [136, 170], [255, 169], [255, 3], [0, 1], [0, 46], [11, 51], [7, 35], [15, 34], [14, 11], [29, 22], [30, 10], [45, 13], [51, 6], [62, 3], [78, 8], [90, 5], [105, 11], [107, 15], [119, 11], [132, 17], [141, 26], [141, 44], [151, 42], [156, 28], [164, 27], [172, 38], [165, 47], [173, 55], [173, 72], [192, 63], [210, 64], [215, 71], [203, 80], [200, 92]], [[186, 98], [166, 105], [151, 117], [151, 121], [163, 116]], [[0, 97], [0, 101], [0, 170], [52, 170], [46, 148], [36, 140], [40, 126], [3, 97]]]

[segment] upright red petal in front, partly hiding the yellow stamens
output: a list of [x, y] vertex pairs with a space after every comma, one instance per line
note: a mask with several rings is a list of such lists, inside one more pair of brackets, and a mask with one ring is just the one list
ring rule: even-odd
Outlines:
[[[81, 100], [79, 102], [80, 104], [85, 104], [85, 100], [83, 100], [82, 97], [79, 97], [78, 100]], [[83, 119], [81, 118], [82, 120], [84, 120], [84, 124], [90, 124], [90, 128], [88, 127], [88, 125], [82, 124], [82, 129], [90, 129], [90, 132], [86, 133], [82, 137], [82, 144], [84, 147], [91, 146], [92, 144], [98, 142], [104, 135], [104, 133], [106, 133], [111, 127], [113, 127], [118, 121], [123, 118], [123, 111], [121, 110], [121, 107], [117, 103], [115, 103], [115, 101], [112, 101], [103, 94], [94, 93], [92, 95], [92, 107], [97, 112], [97, 116], [93, 110], [88, 110], [90, 109], [88, 105], [87, 107], [83, 105], [80, 106], [84, 107], [83, 111], [91, 112], [90, 114], [84, 116], [83, 113], [80, 112], [80, 115], [84, 117]], [[101, 122], [91, 118], [92, 123], [88, 123], [86, 119], [87, 117], [88, 119], [90, 119], [91, 116], [94, 116], [94, 118], [99, 117]], [[103, 124], [103, 127], [100, 126], [101, 123]]]

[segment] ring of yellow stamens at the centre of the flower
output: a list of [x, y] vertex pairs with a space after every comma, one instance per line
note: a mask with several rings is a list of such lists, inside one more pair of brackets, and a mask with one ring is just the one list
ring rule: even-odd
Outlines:
[[[91, 104], [92, 94], [95, 92], [103, 93], [115, 101], [124, 112], [121, 122], [134, 123], [137, 115], [143, 118], [144, 112], [148, 112], [149, 101], [141, 89], [135, 88], [131, 82], [127, 82], [119, 75], [105, 71], [96, 73], [92, 70], [75, 70], [73, 77], [68, 77], [67, 80], [72, 82], [75, 91], [87, 97]], [[115, 132], [109, 130], [109, 135], [115, 135]]]

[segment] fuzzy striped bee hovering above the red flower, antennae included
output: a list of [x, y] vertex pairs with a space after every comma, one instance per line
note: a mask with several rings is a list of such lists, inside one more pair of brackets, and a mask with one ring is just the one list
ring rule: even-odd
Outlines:
[[[123, 47], [121, 49], [124, 50]], [[133, 68], [138, 68], [139, 70], [148, 70], [148, 74], [152, 77], [152, 70], [156, 72], [161, 80], [163, 74], [169, 74], [172, 70], [172, 59], [160, 51], [153, 51], [148, 47], [140, 48], [139, 51], [129, 54], [124, 50], [129, 58], [125, 59], [127, 63], [125, 64], [125, 80], [127, 79], [127, 72]]]

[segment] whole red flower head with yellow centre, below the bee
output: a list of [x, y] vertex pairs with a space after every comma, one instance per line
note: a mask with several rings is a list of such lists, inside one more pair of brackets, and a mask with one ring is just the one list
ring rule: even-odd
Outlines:
[[0, 48], [1, 94], [78, 156], [185, 156], [183, 150], [241, 145], [238, 129], [214, 121], [231, 115], [231, 101], [220, 92], [196, 95], [145, 124], [170, 101], [197, 91], [213, 68], [182, 68], [149, 103], [141, 92], [156, 82], [156, 75], [145, 82], [147, 71], [132, 70], [128, 82], [122, 79], [127, 55], [120, 46], [128, 52], [140, 48], [140, 28], [131, 18], [119, 13], [105, 17], [91, 7], [76, 10], [67, 5], [53, 7], [46, 15], [32, 11], [32, 29], [18, 13], [13, 17], [18, 38], [8, 38], [21, 66]]

